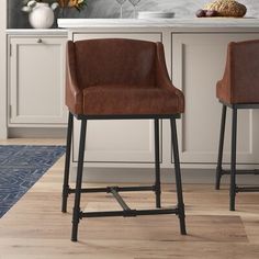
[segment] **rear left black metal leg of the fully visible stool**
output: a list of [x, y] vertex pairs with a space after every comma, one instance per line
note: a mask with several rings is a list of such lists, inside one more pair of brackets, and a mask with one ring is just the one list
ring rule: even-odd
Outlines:
[[71, 154], [71, 139], [72, 139], [72, 121], [74, 121], [74, 116], [69, 112], [68, 128], [67, 128], [66, 160], [65, 160], [64, 182], [63, 182], [61, 212], [67, 212], [67, 198], [69, 194], [69, 169], [70, 169], [70, 154]]

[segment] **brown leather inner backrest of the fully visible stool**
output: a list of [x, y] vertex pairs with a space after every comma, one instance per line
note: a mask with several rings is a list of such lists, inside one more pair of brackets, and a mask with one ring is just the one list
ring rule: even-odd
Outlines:
[[[74, 45], [80, 88], [155, 87], [156, 44], [145, 41], [87, 40]], [[69, 52], [69, 49], [68, 49]]]

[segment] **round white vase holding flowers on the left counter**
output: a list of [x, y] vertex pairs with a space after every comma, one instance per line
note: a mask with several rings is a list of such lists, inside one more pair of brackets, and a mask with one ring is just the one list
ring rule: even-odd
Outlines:
[[29, 14], [29, 22], [35, 29], [48, 29], [54, 23], [54, 12], [48, 3], [37, 2]]

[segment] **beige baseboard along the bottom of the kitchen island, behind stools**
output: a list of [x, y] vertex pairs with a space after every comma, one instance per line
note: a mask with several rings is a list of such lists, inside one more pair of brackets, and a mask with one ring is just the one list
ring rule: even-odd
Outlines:
[[[76, 168], [72, 168], [71, 180], [75, 181]], [[153, 183], [154, 169], [148, 168], [85, 168], [83, 182], [89, 183]], [[174, 171], [161, 169], [161, 182], [173, 183]], [[214, 184], [214, 169], [182, 169], [182, 183]], [[229, 183], [229, 176], [223, 176], [222, 183]], [[237, 176], [237, 183], [259, 184], [259, 176]]]

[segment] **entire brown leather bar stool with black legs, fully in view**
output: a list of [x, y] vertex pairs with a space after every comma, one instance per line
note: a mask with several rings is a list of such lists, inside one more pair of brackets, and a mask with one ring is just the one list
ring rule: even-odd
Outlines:
[[[178, 151], [176, 119], [184, 111], [184, 98], [168, 77], [161, 43], [133, 40], [89, 40], [68, 42], [66, 66], [66, 104], [69, 110], [65, 162], [63, 212], [69, 193], [75, 193], [71, 240], [77, 241], [82, 217], [176, 214], [181, 234], [185, 234], [184, 204]], [[69, 187], [70, 149], [74, 117], [81, 121], [76, 189]], [[155, 184], [151, 187], [82, 188], [86, 128], [89, 120], [154, 120]], [[160, 209], [159, 120], [169, 119], [174, 158], [178, 204]], [[132, 210], [120, 192], [154, 191], [156, 210]], [[122, 211], [82, 212], [81, 193], [113, 194]]]

